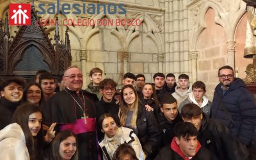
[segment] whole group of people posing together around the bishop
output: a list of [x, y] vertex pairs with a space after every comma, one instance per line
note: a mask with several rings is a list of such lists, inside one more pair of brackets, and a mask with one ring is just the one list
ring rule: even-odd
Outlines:
[[38, 71], [35, 83], [12, 77], [1, 83], [0, 159], [219, 159], [255, 154], [256, 106], [230, 66], [218, 70], [212, 102], [205, 84], [189, 76], [124, 74], [122, 88], [90, 70], [68, 67], [55, 77]]

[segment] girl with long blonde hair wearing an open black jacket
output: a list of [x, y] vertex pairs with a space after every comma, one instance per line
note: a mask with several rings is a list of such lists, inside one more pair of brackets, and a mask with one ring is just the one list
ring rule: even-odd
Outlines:
[[156, 117], [146, 111], [138, 100], [137, 92], [131, 84], [123, 86], [118, 116], [120, 124], [134, 130], [138, 136], [147, 159], [154, 159], [160, 141]]

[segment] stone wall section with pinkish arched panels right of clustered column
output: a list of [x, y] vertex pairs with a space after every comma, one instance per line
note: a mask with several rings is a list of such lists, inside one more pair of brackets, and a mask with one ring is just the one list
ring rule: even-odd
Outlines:
[[194, 0], [189, 3], [189, 51], [193, 79], [204, 81], [212, 99], [218, 68], [230, 65], [244, 78], [248, 61], [243, 58], [246, 4], [241, 0]]

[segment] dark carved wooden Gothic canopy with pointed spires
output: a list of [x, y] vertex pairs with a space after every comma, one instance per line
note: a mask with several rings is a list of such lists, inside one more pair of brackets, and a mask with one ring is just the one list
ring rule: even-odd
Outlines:
[[[65, 42], [60, 41], [58, 17], [52, 45], [40, 18], [31, 6], [31, 25], [19, 26], [19, 31], [10, 40], [8, 13], [0, 20], [0, 77], [35, 75], [35, 71], [45, 69], [56, 76], [63, 75], [65, 68], [72, 60], [68, 27], [65, 32]], [[55, 46], [54, 46], [55, 45]]]

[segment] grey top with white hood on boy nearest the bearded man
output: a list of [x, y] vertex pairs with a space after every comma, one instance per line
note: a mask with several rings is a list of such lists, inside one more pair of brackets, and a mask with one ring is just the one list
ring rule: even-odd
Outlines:
[[185, 104], [189, 104], [189, 103], [196, 104], [197, 106], [199, 106], [202, 109], [202, 111], [204, 113], [207, 113], [207, 115], [209, 115], [209, 116], [211, 115], [212, 102], [209, 101], [209, 99], [206, 97], [206, 95], [203, 96], [203, 102], [202, 102], [202, 105], [200, 106], [198, 104], [198, 102], [196, 102], [195, 97], [193, 95], [193, 92], [190, 92], [188, 94], [188, 98], [180, 103], [180, 106], [178, 108], [179, 109], [179, 113], [181, 113], [181, 109], [183, 108], [183, 106]]

